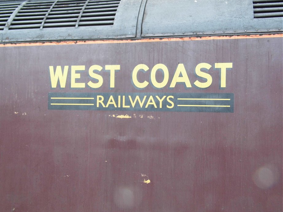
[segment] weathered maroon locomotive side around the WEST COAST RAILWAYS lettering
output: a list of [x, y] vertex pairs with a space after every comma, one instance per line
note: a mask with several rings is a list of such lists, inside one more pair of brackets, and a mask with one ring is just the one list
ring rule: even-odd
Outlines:
[[[282, 35], [2, 45], [1, 210], [281, 211], [280, 46]], [[206, 81], [194, 73], [200, 63], [212, 66], [202, 69], [212, 78], [207, 88], [193, 86]], [[215, 63], [233, 64], [225, 87]], [[95, 64], [103, 84], [91, 89]], [[136, 89], [138, 64], [149, 67], [140, 82], [150, 82], [156, 64], [166, 65], [169, 82], [154, 88], [159, 70], [157, 83]], [[191, 88], [169, 88], [178, 64]], [[52, 89], [49, 66], [67, 65], [66, 87]], [[76, 65], [85, 71], [72, 84]], [[105, 65], [120, 65], [111, 89]], [[234, 112], [48, 110], [49, 92], [233, 93]]]

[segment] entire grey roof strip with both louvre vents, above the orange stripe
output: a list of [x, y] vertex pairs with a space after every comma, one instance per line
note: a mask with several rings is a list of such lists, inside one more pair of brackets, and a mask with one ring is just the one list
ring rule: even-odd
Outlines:
[[282, 2], [0, 1], [0, 42], [282, 33]]

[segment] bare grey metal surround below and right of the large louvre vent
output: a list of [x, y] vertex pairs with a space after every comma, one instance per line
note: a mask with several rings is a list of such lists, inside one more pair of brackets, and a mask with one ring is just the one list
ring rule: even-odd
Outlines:
[[[40, 21], [36, 29], [7, 29], [5, 31], [0, 30], [0, 42], [28, 42], [28, 41], [49, 41], [49, 40], [90, 40], [90, 39], [110, 39], [110, 38], [133, 38], [136, 37], [137, 19], [140, 9], [140, 4], [142, 0], [122, 0], [119, 3], [116, 12], [113, 25], [96, 25], [96, 26], [82, 26], [79, 25], [78, 28], [73, 25], [73, 27], [66, 27], [64, 25], [54, 28], [41, 28], [41, 24], [44, 20], [45, 14], [48, 10], [43, 12], [42, 17], [34, 17], [34, 13], [28, 13], [26, 18], [31, 21]], [[45, 1], [32, 1], [45, 3]], [[59, 1], [62, 2], [62, 1]], [[85, 2], [81, 1], [80, 3]], [[112, 1], [111, 1], [112, 2]], [[71, 2], [75, 4], [76, 2]], [[105, 3], [105, 1], [104, 1]], [[117, 3], [117, 2], [116, 2]], [[103, 4], [103, 2], [102, 2]], [[52, 5], [52, 4], [51, 4]], [[50, 6], [51, 6], [50, 5]], [[0, 8], [5, 9], [5, 6]], [[74, 9], [72, 9], [74, 10]], [[66, 9], [66, 12], [71, 13], [71, 8]], [[106, 9], [105, 9], [106, 10]], [[97, 12], [97, 11], [96, 11]], [[64, 13], [62, 11], [61, 13]], [[89, 13], [90, 14], [90, 13]], [[91, 17], [95, 18], [96, 13], [91, 13]], [[58, 14], [58, 18], [62, 18], [62, 14]], [[76, 19], [79, 17], [79, 12]], [[54, 18], [54, 17], [53, 17]], [[63, 21], [64, 22], [64, 21]], [[45, 22], [45, 25], [48, 23]]]

